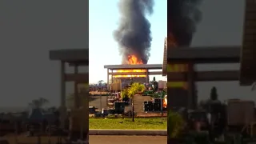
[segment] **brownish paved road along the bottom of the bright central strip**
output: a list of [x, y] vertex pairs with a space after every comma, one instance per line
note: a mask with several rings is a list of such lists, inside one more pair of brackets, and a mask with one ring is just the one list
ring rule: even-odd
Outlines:
[[90, 135], [89, 143], [92, 144], [166, 144], [166, 136], [110, 136]]

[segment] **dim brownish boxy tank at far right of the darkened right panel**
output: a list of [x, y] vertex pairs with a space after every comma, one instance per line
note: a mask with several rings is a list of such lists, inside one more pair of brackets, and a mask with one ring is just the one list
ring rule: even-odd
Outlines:
[[227, 121], [229, 126], [244, 126], [254, 122], [254, 101], [229, 100]]

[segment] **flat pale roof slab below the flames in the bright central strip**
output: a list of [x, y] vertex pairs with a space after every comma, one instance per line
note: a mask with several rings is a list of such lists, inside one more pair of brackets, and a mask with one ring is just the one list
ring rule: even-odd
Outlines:
[[162, 69], [162, 64], [141, 64], [141, 65], [106, 65], [105, 69]]

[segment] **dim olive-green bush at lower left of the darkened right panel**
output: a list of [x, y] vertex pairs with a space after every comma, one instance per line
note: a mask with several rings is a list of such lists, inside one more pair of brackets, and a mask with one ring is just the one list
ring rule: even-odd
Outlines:
[[170, 138], [177, 138], [184, 128], [185, 122], [181, 114], [170, 111], [168, 113], [168, 131]]

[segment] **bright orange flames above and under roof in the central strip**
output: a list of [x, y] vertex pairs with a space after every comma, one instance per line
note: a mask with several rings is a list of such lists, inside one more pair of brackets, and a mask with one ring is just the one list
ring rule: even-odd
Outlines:
[[[139, 65], [143, 64], [142, 60], [140, 58], [137, 58], [134, 54], [128, 55], [127, 65]], [[117, 70], [116, 73], [145, 73], [146, 70]], [[133, 78], [133, 77], [146, 77], [146, 75], [114, 75], [114, 78]]]

